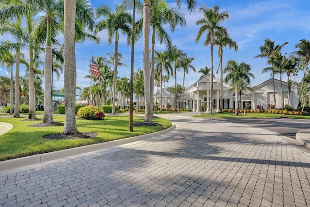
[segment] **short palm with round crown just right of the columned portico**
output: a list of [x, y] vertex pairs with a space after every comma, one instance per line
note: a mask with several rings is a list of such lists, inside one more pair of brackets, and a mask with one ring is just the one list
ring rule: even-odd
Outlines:
[[225, 81], [231, 81], [235, 85], [235, 115], [238, 115], [238, 85], [239, 82], [245, 80], [250, 83], [250, 77], [254, 75], [250, 73], [251, 66], [244, 62], [238, 64], [237, 61], [229, 60], [224, 68], [224, 73], [228, 73]]

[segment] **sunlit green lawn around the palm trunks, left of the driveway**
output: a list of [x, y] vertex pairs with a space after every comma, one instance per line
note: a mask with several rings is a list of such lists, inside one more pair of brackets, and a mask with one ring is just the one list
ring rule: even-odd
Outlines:
[[[42, 118], [42, 116], [38, 116]], [[106, 116], [104, 120], [92, 121], [77, 119], [79, 132], [96, 132], [98, 136], [89, 139], [78, 140], [48, 140], [44, 135], [62, 133], [60, 127], [30, 127], [41, 123], [38, 121], [24, 121], [23, 118], [0, 117], [0, 122], [12, 124], [14, 127], [9, 132], [0, 136], [0, 160], [14, 159], [35, 154], [47, 153], [84, 146], [94, 143], [102, 143], [118, 140], [141, 134], [147, 134], [171, 127], [172, 123], [166, 119], [154, 118], [152, 122], [161, 124], [158, 127], [134, 127], [133, 132], [128, 132], [128, 116]], [[135, 122], [143, 122], [138, 116], [134, 116]], [[54, 116], [54, 122], [64, 123], [64, 115]]]

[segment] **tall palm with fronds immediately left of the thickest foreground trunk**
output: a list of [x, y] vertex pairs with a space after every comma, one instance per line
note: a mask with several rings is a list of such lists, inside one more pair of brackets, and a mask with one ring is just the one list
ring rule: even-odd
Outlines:
[[[36, 14], [43, 14], [41, 16], [37, 36], [41, 40], [40, 42], [46, 42], [45, 48], [45, 94], [44, 94], [44, 116], [43, 122], [53, 122], [52, 115], [52, 65], [53, 65], [53, 50], [52, 45], [59, 44], [54, 38], [58, 32], [64, 32], [64, 0], [51, 1], [51, 0], [26, 0], [28, 5], [32, 5], [32, 8]], [[76, 17], [75, 17], [75, 42], [82, 42], [86, 39], [98, 41], [96, 36], [92, 32], [95, 22], [93, 15], [93, 8], [89, 4], [88, 0], [76, 1]], [[58, 53], [59, 54], [59, 53]], [[57, 59], [61, 58], [57, 56]], [[69, 96], [68, 92], [65, 93]], [[75, 96], [75, 93], [73, 94]], [[68, 105], [68, 107], [72, 107]], [[72, 111], [72, 110], [66, 110]], [[73, 123], [74, 124], [74, 123]]]

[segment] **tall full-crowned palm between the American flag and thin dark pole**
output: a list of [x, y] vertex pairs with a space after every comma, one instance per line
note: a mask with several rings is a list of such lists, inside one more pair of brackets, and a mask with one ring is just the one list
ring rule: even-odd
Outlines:
[[100, 32], [108, 30], [108, 43], [112, 43], [114, 38], [114, 76], [113, 76], [113, 107], [112, 114], [115, 114], [115, 98], [116, 98], [116, 82], [117, 82], [117, 66], [118, 66], [118, 30], [121, 30], [123, 34], [130, 35], [130, 23], [132, 23], [131, 15], [125, 11], [123, 6], [116, 5], [115, 11], [111, 11], [108, 6], [100, 6], [96, 10], [98, 18], [101, 18], [97, 23], [96, 31]]

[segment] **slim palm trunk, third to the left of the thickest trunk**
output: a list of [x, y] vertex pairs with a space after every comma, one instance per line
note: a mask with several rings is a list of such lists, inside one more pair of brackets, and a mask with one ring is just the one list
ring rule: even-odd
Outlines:
[[[17, 39], [17, 43], [20, 43], [20, 39]], [[15, 110], [14, 117], [20, 117], [19, 115], [19, 105], [20, 105], [20, 91], [19, 91], [19, 65], [20, 65], [20, 49], [16, 49], [16, 68], [15, 68]]]

